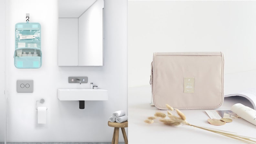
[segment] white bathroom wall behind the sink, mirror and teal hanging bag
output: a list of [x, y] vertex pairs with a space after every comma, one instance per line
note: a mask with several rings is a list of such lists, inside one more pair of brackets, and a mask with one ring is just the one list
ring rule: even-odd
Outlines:
[[[58, 0], [8, 0], [6, 9], [7, 142], [111, 142], [108, 118], [116, 110], [127, 112], [127, 0], [105, 0], [103, 67], [58, 67]], [[38, 69], [14, 66], [14, 27], [26, 22], [26, 13], [42, 27]], [[87, 76], [88, 83], [69, 84], [69, 76]], [[17, 79], [33, 79], [34, 92], [17, 93]], [[107, 89], [109, 99], [85, 101], [85, 109], [79, 109], [78, 101], [57, 98], [57, 88], [89, 88], [90, 82]], [[37, 124], [36, 100], [41, 98], [47, 124]]]

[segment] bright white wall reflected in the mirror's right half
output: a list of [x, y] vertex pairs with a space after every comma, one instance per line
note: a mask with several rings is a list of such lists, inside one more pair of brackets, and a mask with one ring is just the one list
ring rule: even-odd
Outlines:
[[79, 65], [103, 65], [103, 0], [97, 0], [79, 17]]

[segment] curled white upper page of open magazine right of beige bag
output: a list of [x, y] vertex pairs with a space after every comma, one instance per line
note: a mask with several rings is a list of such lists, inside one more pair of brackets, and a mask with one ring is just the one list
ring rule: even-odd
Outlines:
[[241, 97], [248, 99], [251, 102], [253, 109], [256, 110], [256, 107], [255, 107], [256, 89], [250, 89], [250, 90], [242, 91], [242, 92], [239, 92], [236, 94], [229, 94], [229, 95], [225, 95], [224, 97], [226, 98], [226, 97], [232, 97], [232, 96], [241, 96]]

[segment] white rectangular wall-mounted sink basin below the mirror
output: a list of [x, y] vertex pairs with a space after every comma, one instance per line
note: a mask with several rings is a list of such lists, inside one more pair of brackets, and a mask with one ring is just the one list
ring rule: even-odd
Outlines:
[[105, 89], [58, 89], [59, 100], [108, 100]]

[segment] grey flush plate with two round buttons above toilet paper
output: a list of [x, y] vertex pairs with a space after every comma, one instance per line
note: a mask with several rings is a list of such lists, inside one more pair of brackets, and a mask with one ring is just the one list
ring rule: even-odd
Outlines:
[[33, 92], [33, 80], [17, 80], [17, 92]]

